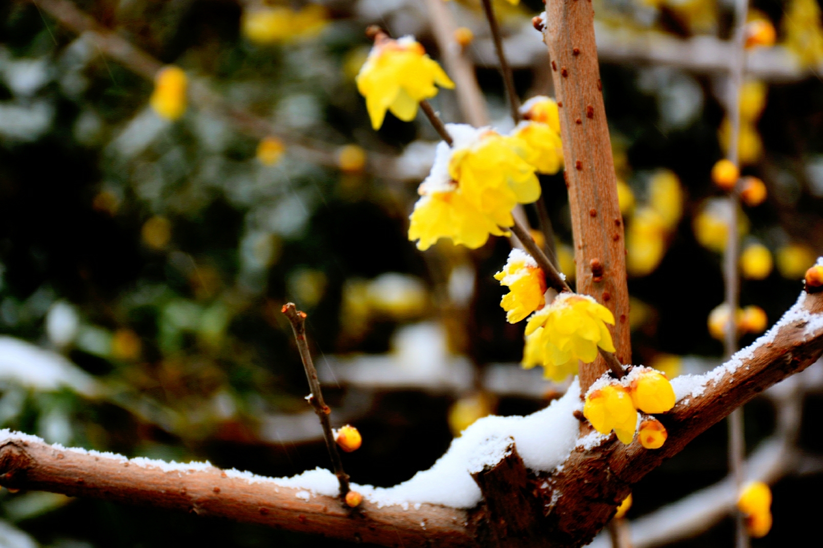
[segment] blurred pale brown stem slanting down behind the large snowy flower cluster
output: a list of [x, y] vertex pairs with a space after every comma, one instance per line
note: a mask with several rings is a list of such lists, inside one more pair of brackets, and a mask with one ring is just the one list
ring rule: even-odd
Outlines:
[[431, 30], [437, 40], [440, 55], [455, 83], [454, 92], [458, 96], [460, 112], [467, 123], [475, 128], [489, 124], [489, 112], [486, 109], [486, 98], [477, 83], [474, 72], [474, 63], [454, 40], [454, 18], [446, 2], [443, 0], [425, 0], [429, 10]]

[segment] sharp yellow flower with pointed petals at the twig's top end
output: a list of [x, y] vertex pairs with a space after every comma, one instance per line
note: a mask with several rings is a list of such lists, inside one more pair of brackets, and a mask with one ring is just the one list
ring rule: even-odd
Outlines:
[[412, 36], [394, 40], [383, 33], [375, 36], [374, 48], [356, 81], [374, 129], [383, 125], [386, 110], [404, 122], [411, 122], [420, 101], [437, 95], [435, 84], [454, 87], [444, 70]]

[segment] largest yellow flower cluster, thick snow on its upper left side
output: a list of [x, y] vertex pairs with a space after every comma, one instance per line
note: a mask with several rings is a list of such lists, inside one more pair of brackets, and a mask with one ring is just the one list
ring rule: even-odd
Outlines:
[[[479, 248], [489, 235], [505, 235], [518, 203], [540, 197], [534, 168], [512, 137], [466, 124], [446, 125], [453, 147], [438, 145], [435, 164], [421, 183], [409, 239], [427, 249], [440, 238]], [[501, 228], [502, 227], [502, 228]]]

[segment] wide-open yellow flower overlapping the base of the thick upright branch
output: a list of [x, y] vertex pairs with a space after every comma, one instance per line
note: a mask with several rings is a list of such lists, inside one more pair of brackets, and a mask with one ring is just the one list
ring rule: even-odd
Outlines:
[[532, 314], [526, 335], [542, 327], [534, 343], [537, 351], [542, 352], [542, 363], [571, 368], [577, 365], [577, 360], [592, 363], [597, 358], [597, 346], [615, 351], [606, 323], [614, 325], [615, 318], [605, 306], [588, 295], [563, 292], [551, 304]]

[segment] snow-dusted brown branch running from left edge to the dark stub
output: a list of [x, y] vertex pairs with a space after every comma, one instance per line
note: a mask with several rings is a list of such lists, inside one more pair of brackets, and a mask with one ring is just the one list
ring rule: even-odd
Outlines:
[[431, 504], [406, 510], [378, 508], [364, 501], [352, 513], [335, 497], [309, 498], [305, 490], [276, 485], [267, 478], [249, 481], [216, 467], [188, 471], [187, 465], [164, 471], [125, 457], [78, 453], [31, 438], [12, 434], [0, 444], [2, 485], [183, 510], [383, 546], [476, 546], [462, 510]]

